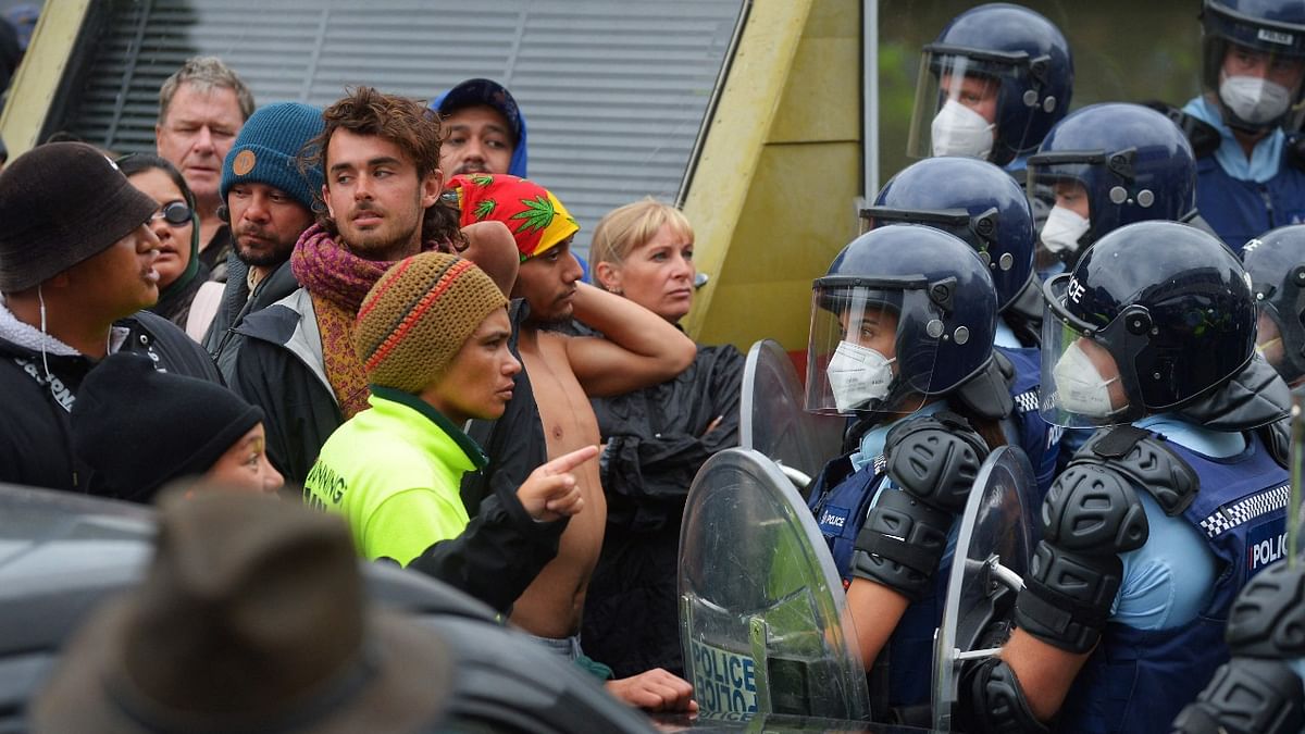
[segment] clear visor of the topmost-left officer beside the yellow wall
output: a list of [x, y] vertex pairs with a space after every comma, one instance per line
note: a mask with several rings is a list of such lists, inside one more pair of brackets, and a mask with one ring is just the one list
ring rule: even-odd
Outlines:
[[925, 46], [907, 154], [988, 161], [997, 140], [1001, 71], [1009, 72], [1013, 60], [1001, 54]]

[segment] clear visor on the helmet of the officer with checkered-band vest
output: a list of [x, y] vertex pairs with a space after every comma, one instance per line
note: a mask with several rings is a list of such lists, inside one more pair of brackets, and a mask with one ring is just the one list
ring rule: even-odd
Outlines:
[[1094, 428], [1130, 423], [1144, 415], [1144, 406], [1129, 401], [1122, 370], [1103, 346], [1128, 321], [1121, 313], [1104, 328], [1070, 313], [1066, 303], [1082, 298], [1083, 286], [1069, 274], [1057, 276], [1043, 286], [1043, 381], [1039, 409], [1052, 424], [1067, 428]]

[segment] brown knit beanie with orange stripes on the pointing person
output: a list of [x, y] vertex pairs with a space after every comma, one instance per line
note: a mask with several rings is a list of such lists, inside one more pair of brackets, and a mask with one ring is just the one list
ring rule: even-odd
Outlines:
[[467, 337], [506, 303], [470, 260], [414, 255], [386, 270], [363, 299], [354, 351], [369, 383], [416, 394], [444, 375]]

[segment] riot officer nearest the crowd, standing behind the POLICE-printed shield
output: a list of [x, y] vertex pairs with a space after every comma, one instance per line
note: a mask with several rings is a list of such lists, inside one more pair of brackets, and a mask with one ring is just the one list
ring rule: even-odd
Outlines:
[[814, 285], [806, 407], [857, 422], [809, 504], [867, 667], [891, 646], [872, 710], [929, 701], [937, 569], [979, 465], [1005, 443], [997, 421], [954, 400], [988, 371], [996, 323], [988, 265], [933, 227], [877, 227]]

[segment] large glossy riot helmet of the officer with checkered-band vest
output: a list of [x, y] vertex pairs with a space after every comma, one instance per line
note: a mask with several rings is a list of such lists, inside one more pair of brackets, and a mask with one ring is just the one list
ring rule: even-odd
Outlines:
[[1241, 261], [1176, 222], [1114, 230], [1043, 289], [1044, 418], [1130, 423], [1180, 409], [1232, 379], [1255, 347]]

